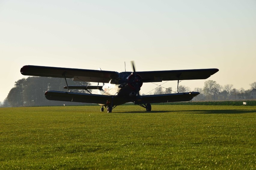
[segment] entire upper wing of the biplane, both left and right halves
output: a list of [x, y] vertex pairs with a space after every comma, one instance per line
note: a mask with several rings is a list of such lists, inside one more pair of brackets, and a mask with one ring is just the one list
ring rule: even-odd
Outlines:
[[[218, 69], [191, 69], [191, 70], [167, 70], [167, 71], [147, 71], [136, 72], [142, 77], [142, 81], [161, 82], [170, 80], [195, 80], [206, 79], [218, 72]], [[46, 66], [23, 66], [20, 69], [23, 75], [42, 76], [42, 77], [58, 77], [73, 78], [74, 81], [101, 82], [108, 83], [110, 80], [118, 81], [118, 72], [89, 70], [89, 69], [71, 69], [61, 67]], [[131, 72], [122, 72], [130, 75]], [[121, 73], [120, 73], [121, 74]]]

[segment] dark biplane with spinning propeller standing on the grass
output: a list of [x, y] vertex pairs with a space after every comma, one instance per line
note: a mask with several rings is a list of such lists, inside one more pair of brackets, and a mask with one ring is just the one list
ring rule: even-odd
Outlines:
[[[133, 102], [146, 111], [151, 111], [152, 103], [166, 103], [178, 101], [190, 101], [199, 92], [182, 92], [140, 95], [139, 91], [143, 83], [162, 81], [181, 81], [207, 79], [218, 72], [218, 69], [188, 69], [188, 70], [166, 70], [166, 71], [142, 71], [136, 72], [132, 62], [133, 72], [114, 72], [90, 69], [72, 69], [47, 66], [23, 66], [20, 69], [22, 75], [42, 76], [53, 78], [72, 78], [73, 81], [98, 82], [98, 86], [69, 86], [66, 81], [64, 89], [67, 91], [47, 91], [45, 97], [48, 100], [71, 101], [83, 103], [95, 103], [101, 105], [100, 111], [107, 108], [107, 112], [118, 105]], [[99, 83], [102, 86], [99, 86]], [[89, 93], [72, 92], [71, 89], [84, 89]], [[98, 94], [92, 94], [90, 90], [96, 89]], [[178, 84], [177, 84], [178, 89]]]

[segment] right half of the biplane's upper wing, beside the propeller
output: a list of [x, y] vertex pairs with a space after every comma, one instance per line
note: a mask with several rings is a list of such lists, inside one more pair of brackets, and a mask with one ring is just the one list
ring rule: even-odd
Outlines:
[[206, 79], [218, 72], [219, 69], [191, 69], [136, 72], [142, 77], [143, 82], [161, 82], [170, 80], [196, 80]]

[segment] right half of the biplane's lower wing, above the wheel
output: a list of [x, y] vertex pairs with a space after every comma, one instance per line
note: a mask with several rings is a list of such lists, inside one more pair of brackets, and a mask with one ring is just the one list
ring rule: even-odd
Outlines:
[[185, 92], [185, 93], [172, 93], [163, 95], [143, 95], [141, 99], [136, 102], [144, 103], [167, 103], [167, 102], [177, 102], [177, 101], [190, 101], [199, 92]]

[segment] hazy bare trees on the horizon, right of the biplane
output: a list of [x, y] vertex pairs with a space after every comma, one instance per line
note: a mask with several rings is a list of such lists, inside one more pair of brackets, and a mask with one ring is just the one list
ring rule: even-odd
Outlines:
[[[204, 87], [196, 87], [191, 90], [187, 86], [178, 86], [178, 92], [200, 92], [194, 100], [197, 101], [209, 101], [209, 100], [236, 100], [236, 99], [250, 99], [251, 90], [256, 89], [256, 81], [250, 84], [251, 88], [245, 90], [244, 88], [233, 88], [233, 84], [226, 84], [221, 86], [216, 81], [208, 80], [204, 82]], [[154, 90], [154, 94], [168, 94], [172, 93], [172, 87], [163, 88], [161, 86]]]

